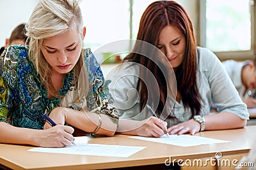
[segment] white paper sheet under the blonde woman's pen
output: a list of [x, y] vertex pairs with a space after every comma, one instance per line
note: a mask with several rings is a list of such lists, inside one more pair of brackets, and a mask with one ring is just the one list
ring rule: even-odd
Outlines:
[[[85, 137], [86, 138], [86, 137]], [[85, 141], [85, 142], [84, 142]], [[134, 153], [146, 148], [145, 146], [122, 146], [122, 145], [100, 145], [86, 143], [79, 137], [75, 140], [76, 145], [64, 148], [32, 148], [29, 152], [65, 153], [74, 155], [94, 155], [102, 157], [129, 157]]]

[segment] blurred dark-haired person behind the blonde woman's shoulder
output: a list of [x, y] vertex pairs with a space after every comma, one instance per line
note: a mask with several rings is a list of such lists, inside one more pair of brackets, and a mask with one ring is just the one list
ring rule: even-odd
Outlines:
[[10, 38], [5, 39], [5, 46], [1, 47], [0, 49], [0, 55], [3, 53], [4, 48], [6, 48], [6, 46], [26, 45], [26, 40], [28, 37], [26, 36], [25, 25], [26, 25], [25, 23], [22, 23], [17, 27], [15, 27], [15, 29], [13, 29]]

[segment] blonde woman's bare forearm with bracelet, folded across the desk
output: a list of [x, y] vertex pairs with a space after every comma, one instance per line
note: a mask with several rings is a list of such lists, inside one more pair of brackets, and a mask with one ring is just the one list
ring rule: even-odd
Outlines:
[[[90, 113], [85, 111], [77, 111], [65, 108], [63, 110], [65, 115], [65, 122], [73, 127], [81, 129], [85, 132], [93, 132], [99, 125], [99, 116], [97, 113]], [[97, 134], [106, 136], [113, 136], [116, 131], [117, 124], [112, 122], [107, 115], [100, 114], [102, 125]]]

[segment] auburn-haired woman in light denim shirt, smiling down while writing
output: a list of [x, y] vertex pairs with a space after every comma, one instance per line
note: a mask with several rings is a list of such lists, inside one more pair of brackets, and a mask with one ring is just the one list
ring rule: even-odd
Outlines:
[[[193, 24], [180, 4], [150, 4], [141, 17], [137, 39], [132, 52], [111, 73], [109, 90], [121, 118], [151, 117], [145, 107], [149, 104], [168, 122], [169, 134], [246, 125], [246, 105], [218, 57], [196, 46]], [[209, 115], [211, 102], [220, 113]]]

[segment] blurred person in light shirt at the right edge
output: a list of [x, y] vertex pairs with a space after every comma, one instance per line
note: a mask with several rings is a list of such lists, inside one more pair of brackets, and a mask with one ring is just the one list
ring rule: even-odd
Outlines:
[[248, 108], [255, 108], [256, 57], [253, 60], [245, 60], [244, 62], [225, 60], [222, 64], [243, 102]]

